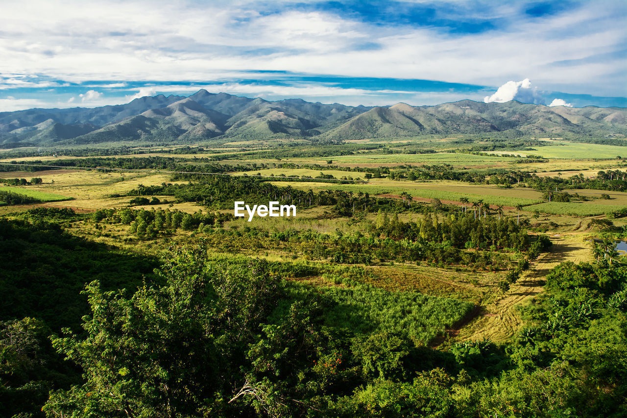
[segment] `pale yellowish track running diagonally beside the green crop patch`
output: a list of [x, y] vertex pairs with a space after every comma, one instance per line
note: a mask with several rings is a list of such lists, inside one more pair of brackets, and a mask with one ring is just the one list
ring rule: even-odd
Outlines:
[[503, 297], [486, 306], [483, 313], [463, 328], [449, 330], [449, 334], [458, 340], [505, 341], [512, 338], [522, 326], [516, 306], [529, 302], [544, 291], [546, 274], [561, 262], [591, 259], [589, 247], [580, 234], [556, 235], [551, 237], [551, 241], [551, 251], [540, 255]]

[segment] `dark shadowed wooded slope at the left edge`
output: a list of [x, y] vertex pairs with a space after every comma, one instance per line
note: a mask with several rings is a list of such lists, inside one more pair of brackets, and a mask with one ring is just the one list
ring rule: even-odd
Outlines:
[[89, 313], [85, 284], [134, 291], [154, 281], [155, 257], [75, 237], [55, 223], [0, 220], [0, 320], [43, 319], [53, 331], [80, 330]]

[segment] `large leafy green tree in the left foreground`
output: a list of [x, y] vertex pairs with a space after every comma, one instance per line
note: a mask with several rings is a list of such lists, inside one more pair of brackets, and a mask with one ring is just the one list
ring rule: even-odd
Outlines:
[[[195, 417], [228, 408], [250, 370], [246, 350], [282, 295], [265, 262], [207, 264], [207, 248], [172, 250], [161, 287], [86, 287], [84, 335], [65, 330], [53, 346], [83, 370], [84, 383], [56, 390], [51, 417]], [[245, 367], [246, 365], [246, 367]], [[244, 399], [242, 399], [243, 401]], [[250, 416], [247, 402], [229, 415]]]

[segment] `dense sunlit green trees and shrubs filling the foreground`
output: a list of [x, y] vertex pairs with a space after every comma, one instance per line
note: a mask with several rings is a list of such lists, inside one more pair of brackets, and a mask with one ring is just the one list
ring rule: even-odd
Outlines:
[[[282, 281], [280, 269], [256, 260], [211, 260], [194, 247], [174, 250], [158, 271], [163, 284], [139, 287], [132, 296], [91, 282], [84, 331], [66, 330], [52, 341], [83, 380], [57, 386], [45, 414], [627, 413], [624, 266], [562, 264], [547, 276], [545, 296], [525, 311], [527, 326], [513, 343], [456, 343], [443, 351], [424, 346], [414, 328], [422, 315], [415, 309], [429, 308], [423, 296], [389, 299], [393, 294], [361, 291], [348, 278], [346, 288], [316, 289]], [[440, 311], [444, 323], [468, 309], [444, 299], [429, 303], [440, 304], [429, 313]], [[2, 335], [14, 330], [24, 336], [4, 337], [4, 358], [14, 353], [11, 365], [34, 373], [53, 356], [36, 344], [41, 325], [3, 323]], [[11, 392], [14, 382], [3, 383], [4, 395], [24, 402], [26, 392]]]

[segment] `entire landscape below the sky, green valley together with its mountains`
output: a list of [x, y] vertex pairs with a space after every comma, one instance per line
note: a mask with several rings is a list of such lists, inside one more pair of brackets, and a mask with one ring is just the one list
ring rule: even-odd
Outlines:
[[[76, 370], [95, 373], [116, 353], [102, 372], [113, 385], [167, 380], [151, 359], [176, 358], [177, 370], [211, 382], [171, 382], [176, 399], [222, 388], [205, 396], [229, 414], [254, 410], [240, 392], [257, 390], [311, 416], [379, 416], [405, 395], [364, 399], [398, 385], [461, 399], [451, 407], [460, 416], [464, 402], [485, 412], [492, 399], [519, 416], [510, 400], [530, 396], [510, 392], [519, 375], [558, 363], [571, 374], [552, 384], [597, 399], [604, 366], [584, 376], [566, 363], [573, 336], [590, 339], [586, 350], [623, 338], [589, 334], [620, 328], [624, 315], [624, 256], [611, 247], [627, 233], [623, 114], [202, 91], [0, 114], [0, 290], [11, 301], [0, 324], [23, 327], [28, 350], [50, 359], [11, 383], [11, 396], [71, 411], [91, 401], [82, 385], [100, 384]], [[249, 222], [235, 201], [297, 210]], [[40, 400], [21, 397], [24, 385], [39, 385]], [[283, 416], [287, 401], [259, 402]]]

